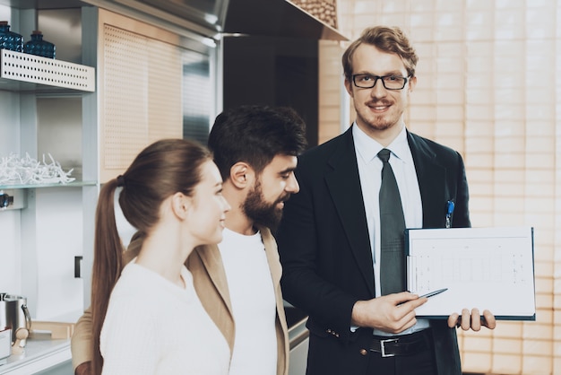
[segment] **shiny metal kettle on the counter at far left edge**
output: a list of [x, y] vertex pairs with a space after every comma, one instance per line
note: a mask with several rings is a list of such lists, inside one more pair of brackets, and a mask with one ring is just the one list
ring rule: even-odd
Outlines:
[[[0, 292], [0, 329], [4, 327], [12, 328], [12, 344], [15, 343], [18, 328], [31, 329], [31, 316], [25, 297]], [[24, 347], [26, 341], [23, 339], [20, 346]]]

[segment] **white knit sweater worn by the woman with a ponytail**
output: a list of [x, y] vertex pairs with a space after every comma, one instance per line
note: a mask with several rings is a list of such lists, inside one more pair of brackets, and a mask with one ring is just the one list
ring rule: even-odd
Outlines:
[[228, 374], [228, 343], [185, 267], [181, 275], [186, 289], [134, 261], [125, 266], [101, 329], [103, 374]]

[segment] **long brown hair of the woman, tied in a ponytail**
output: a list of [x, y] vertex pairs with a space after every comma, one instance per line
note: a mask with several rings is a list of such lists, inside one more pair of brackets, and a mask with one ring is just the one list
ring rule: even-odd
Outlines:
[[91, 318], [93, 373], [99, 374], [103, 360], [99, 334], [108, 308], [109, 295], [117, 283], [124, 262], [118, 236], [114, 196], [122, 187], [119, 205], [125, 218], [141, 235], [160, 220], [160, 205], [177, 192], [191, 196], [202, 179], [202, 166], [211, 153], [201, 144], [183, 139], [157, 141], [136, 156], [122, 176], [111, 179], [99, 193], [96, 210], [93, 273], [91, 276]]

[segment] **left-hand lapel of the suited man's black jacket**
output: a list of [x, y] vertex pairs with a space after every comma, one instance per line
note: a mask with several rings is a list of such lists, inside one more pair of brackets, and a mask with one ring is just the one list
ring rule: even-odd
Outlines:
[[345, 134], [341, 135], [339, 147], [328, 161], [329, 165], [332, 166], [332, 172], [325, 175], [325, 182], [341, 217], [343, 230], [347, 235], [360, 272], [364, 276], [372, 296], [374, 296], [374, 267], [370, 235], [351, 129], [352, 126]]

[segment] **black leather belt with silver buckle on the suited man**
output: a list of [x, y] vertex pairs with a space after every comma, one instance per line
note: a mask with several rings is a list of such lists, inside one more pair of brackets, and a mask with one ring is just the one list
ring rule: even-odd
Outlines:
[[424, 329], [410, 335], [374, 336], [370, 351], [381, 353], [382, 357], [410, 355], [427, 349], [430, 340], [430, 329]]

